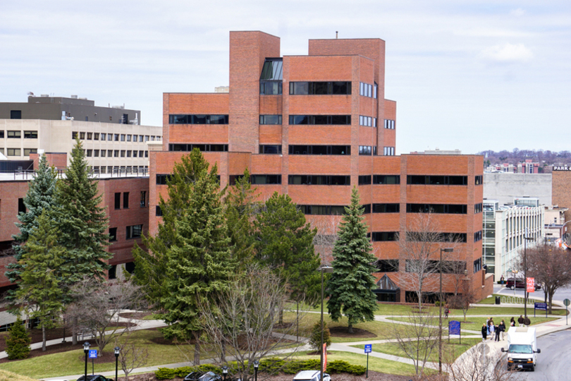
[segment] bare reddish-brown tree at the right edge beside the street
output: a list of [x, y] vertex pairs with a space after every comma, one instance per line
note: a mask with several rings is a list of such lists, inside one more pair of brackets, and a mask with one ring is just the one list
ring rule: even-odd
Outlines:
[[[519, 267], [522, 270], [523, 257], [524, 253], [521, 253]], [[534, 277], [535, 282], [543, 284], [551, 313], [555, 291], [571, 284], [571, 255], [567, 250], [551, 245], [528, 248], [526, 277]]]

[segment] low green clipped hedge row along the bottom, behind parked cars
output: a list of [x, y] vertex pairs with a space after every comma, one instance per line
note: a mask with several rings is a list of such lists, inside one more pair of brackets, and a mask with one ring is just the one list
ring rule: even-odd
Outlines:
[[[247, 366], [247, 362], [245, 363]], [[239, 365], [235, 361], [228, 363], [228, 374], [234, 375], [238, 373]], [[296, 360], [285, 362], [280, 358], [264, 358], [259, 362], [259, 371], [270, 374], [277, 374], [283, 372], [286, 375], [295, 375], [302, 370], [319, 369], [319, 360]], [[364, 375], [367, 369], [362, 365], [352, 365], [347, 361], [336, 360], [329, 361], [327, 364], [327, 373], [350, 373], [352, 375]], [[191, 372], [214, 372], [217, 374], [222, 373], [219, 366], [212, 364], [203, 364], [197, 366], [183, 366], [181, 368], [159, 368], [154, 375], [158, 380], [172, 380], [175, 377], [183, 378]], [[254, 369], [250, 371], [253, 373]]]

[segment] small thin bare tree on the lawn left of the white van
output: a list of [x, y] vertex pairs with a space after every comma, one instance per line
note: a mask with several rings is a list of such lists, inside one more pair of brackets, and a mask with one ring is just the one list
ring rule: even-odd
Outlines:
[[438, 348], [438, 326], [433, 325], [437, 316], [426, 310], [410, 313], [406, 323], [393, 323], [391, 334], [399, 348], [412, 360], [417, 377], [424, 375], [429, 357]]

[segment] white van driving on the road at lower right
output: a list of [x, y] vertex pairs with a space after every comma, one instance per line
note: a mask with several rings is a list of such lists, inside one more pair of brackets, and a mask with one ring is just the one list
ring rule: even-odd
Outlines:
[[508, 352], [508, 370], [529, 369], [532, 372], [537, 365], [537, 338], [535, 328], [510, 327], [508, 331], [508, 349], [502, 348], [502, 352]]

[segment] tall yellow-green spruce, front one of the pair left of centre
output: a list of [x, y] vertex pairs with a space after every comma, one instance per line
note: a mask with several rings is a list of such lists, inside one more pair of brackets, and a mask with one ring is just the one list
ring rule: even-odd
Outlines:
[[195, 171], [188, 204], [174, 223], [176, 238], [165, 253], [161, 306], [169, 326], [163, 332], [195, 339], [195, 365], [200, 361], [199, 306], [216, 305], [216, 295], [226, 291], [235, 268], [216, 175], [216, 166]]

